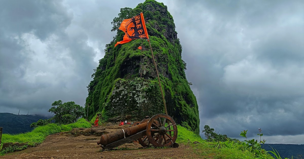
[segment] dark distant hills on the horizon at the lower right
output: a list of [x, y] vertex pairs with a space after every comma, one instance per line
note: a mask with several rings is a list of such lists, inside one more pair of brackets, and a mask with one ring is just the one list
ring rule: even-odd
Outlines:
[[[273, 151], [270, 146], [276, 149], [282, 158], [288, 157], [291, 159], [291, 156], [295, 158], [298, 157], [298, 155], [302, 155], [302, 158], [304, 158], [304, 144], [264, 144], [264, 149], [266, 151]], [[272, 156], [274, 157], [273, 154]]]

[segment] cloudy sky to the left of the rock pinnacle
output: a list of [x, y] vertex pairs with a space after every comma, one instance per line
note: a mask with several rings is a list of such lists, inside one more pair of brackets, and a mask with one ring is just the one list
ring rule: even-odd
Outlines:
[[59, 99], [83, 106], [112, 19], [138, 3], [1, 1], [0, 112], [47, 114]]

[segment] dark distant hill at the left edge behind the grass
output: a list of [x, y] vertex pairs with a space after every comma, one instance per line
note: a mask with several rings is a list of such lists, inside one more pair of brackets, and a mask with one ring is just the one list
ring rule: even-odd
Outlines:
[[16, 115], [11, 113], [0, 113], [0, 127], [3, 127], [3, 134], [19, 134], [32, 131], [29, 127], [39, 119], [49, 119], [42, 115]]

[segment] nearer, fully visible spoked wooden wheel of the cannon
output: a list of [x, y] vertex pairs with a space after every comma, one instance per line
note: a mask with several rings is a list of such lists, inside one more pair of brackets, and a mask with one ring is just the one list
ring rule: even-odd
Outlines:
[[[153, 128], [155, 127], [154, 125], [157, 128]], [[156, 114], [150, 118], [146, 133], [149, 142], [153, 146], [171, 147], [177, 139], [177, 126], [169, 115]]]

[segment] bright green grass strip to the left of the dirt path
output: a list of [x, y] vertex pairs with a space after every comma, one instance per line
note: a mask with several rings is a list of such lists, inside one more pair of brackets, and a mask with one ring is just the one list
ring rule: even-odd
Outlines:
[[[20, 133], [20, 134], [2, 134], [2, 140], [1, 140], [1, 148], [3, 143], [8, 143], [8, 142], [19, 142], [19, 143], [25, 143], [28, 142], [27, 145], [29, 146], [35, 146], [36, 144], [41, 144], [44, 140], [45, 137], [47, 137], [50, 134], [55, 134], [59, 133], [62, 131], [70, 131], [72, 128], [91, 128], [91, 124], [86, 121], [84, 118], [78, 119], [77, 122], [72, 123], [72, 124], [67, 124], [67, 125], [57, 125], [57, 124], [47, 124], [45, 126], [40, 126], [35, 128], [31, 132], [27, 133]], [[14, 147], [14, 148], [9, 148], [9, 150], [1, 150], [0, 155], [3, 155], [7, 152], [11, 152], [14, 149], [24, 149], [27, 147], [27, 145], [23, 147]]]

